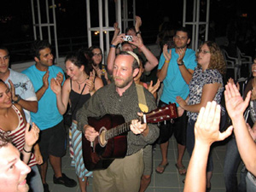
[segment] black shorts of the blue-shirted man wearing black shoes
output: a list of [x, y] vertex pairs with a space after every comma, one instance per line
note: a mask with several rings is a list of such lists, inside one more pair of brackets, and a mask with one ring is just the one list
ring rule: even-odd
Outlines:
[[48, 160], [49, 154], [62, 157], [66, 153], [66, 130], [63, 120], [49, 129], [40, 131], [39, 147], [44, 162]]

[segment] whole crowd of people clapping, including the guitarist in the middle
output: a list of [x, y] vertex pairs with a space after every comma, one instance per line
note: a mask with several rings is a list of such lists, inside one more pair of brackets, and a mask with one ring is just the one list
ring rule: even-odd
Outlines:
[[[88, 177], [93, 177], [96, 192], [143, 192], [151, 182], [155, 145], [160, 145], [162, 160], [154, 171], [161, 174], [169, 166], [172, 134], [177, 141], [175, 166], [180, 175], [186, 175], [184, 191], [211, 190], [211, 144], [227, 137], [227, 191], [256, 191], [256, 59], [253, 79], [240, 91], [243, 88], [233, 79], [225, 84], [226, 64], [215, 42], [204, 42], [195, 52], [188, 48], [187, 28], [169, 30], [163, 25], [169, 31], [160, 34], [162, 51], [157, 58], [145, 46], [140, 26], [142, 20], [137, 16], [136, 25], [119, 34], [115, 23], [107, 63], [103, 63], [100, 47], [81, 48], [66, 56], [66, 73], [54, 65], [47, 40], [32, 43], [35, 64], [21, 73], [9, 68], [9, 49], [0, 46], [0, 191], [48, 192], [49, 162], [55, 184], [73, 188], [78, 181], [80, 191], [85, 192]], [[132, 41], [125, 41], [126, 35]], [[171, 43], [163, 43], [166, 41]], [[143, 75], [154, 68], [157, 81], [143, 82]], [[177, 118], [159, 125], [145, 121], [144, 113], [170, 102], [177, 106]], [[71, 113], [70, 137], [63, 120], [67, 110]], [[224, 113], [232, 125], [220, 132]], [[106, 125], [97, 125], [102, 119]], [[107, 130], [122, 123], [129, 128], [125, 140], [118, 131]], [[111, 140], [112, 134], [116, 140]], [[84, 141], [90, 148], [84, 149]], [[67, 147], [77, 181], [61, 172]], [[183, 165], [186, 148], [188, 170]], [[84, 156], [83, 150], [91, 155]], [[120, 151], [122, 158], [111, 159]], [[107, 153], [111, 155], [105, 158]], [[238, 186], [236, 172], [241, 160], [246, 171]]]

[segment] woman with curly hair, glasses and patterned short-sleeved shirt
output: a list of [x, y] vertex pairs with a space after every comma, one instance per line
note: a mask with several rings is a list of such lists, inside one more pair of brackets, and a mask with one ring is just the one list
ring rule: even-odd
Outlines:
[[[223, 75], [226, 70], [224, 56], [218, 44], [207, 41], [201, 45], [196, 53], [197, 67], [189, 83], [188, 102], [177, 96], [177, 103], [181, 108], [188, 111], [189, 122], [187, 127], [186, 147], [191, 156], [195, 145], [195, 121], [202, 107], [207, 106], [207, 102], [221, 102], [224, 91]], [[211, 189], [213, 163], [211, 153], [207, 162], [207, 191]], [[205, 182], [205, 181], [202, 181]]]

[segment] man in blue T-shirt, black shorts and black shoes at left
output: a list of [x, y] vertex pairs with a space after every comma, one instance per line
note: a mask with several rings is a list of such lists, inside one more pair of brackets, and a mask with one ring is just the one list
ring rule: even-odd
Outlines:
[[44, 191], [49, 191], [46, 183], [48, 159], [55, 173], [54, 183], [75, 187], [77, 183], [61, 173], [61, 157], [66, 153], [66, 130], [63, 117], [57, 108], [55, 93], [49, 87], [50, 79], [53, 78], [62, 84], [64, 73], [61, 67], [53, 65], [54, 56], [47, 41], [33, 42], [32, 54], [36, 64], [22, 73], [31, 79], [38, 97], [38, 112], [31, 115], [32, 121], [41, 130], [39, 146], [44, 160], [44, 164], [41, 165]]

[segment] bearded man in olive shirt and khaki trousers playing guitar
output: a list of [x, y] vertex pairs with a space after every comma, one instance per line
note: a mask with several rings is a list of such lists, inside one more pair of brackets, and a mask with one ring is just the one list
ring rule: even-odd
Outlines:
[[[104, 114], [121, 114], [125, 122], [131, 121], [127, 134], [125, 158], [113, 160], [106, 170], [93, 172], [93, 191], [137, 192], [143, 175], [143, 148], [159, 136], [157, 125], [142, 124], [137, 120], [139, 108], [137, 85], [133, 78], [139, 72], [139, 60], [131, 51], [117, 55], [113, 65], [113, 81], [96, 93], [77, 113], [78, 128], [85, 138], [93, 142], [99, 133], [88, 125], [88, 117], [101, 117]], [[143, 88], [148, 111], [156, 108], [154, 96]], [[108, 99], [106, 99], [108, 96]], [[142, 113], [140, 113], [142, 115]]]

